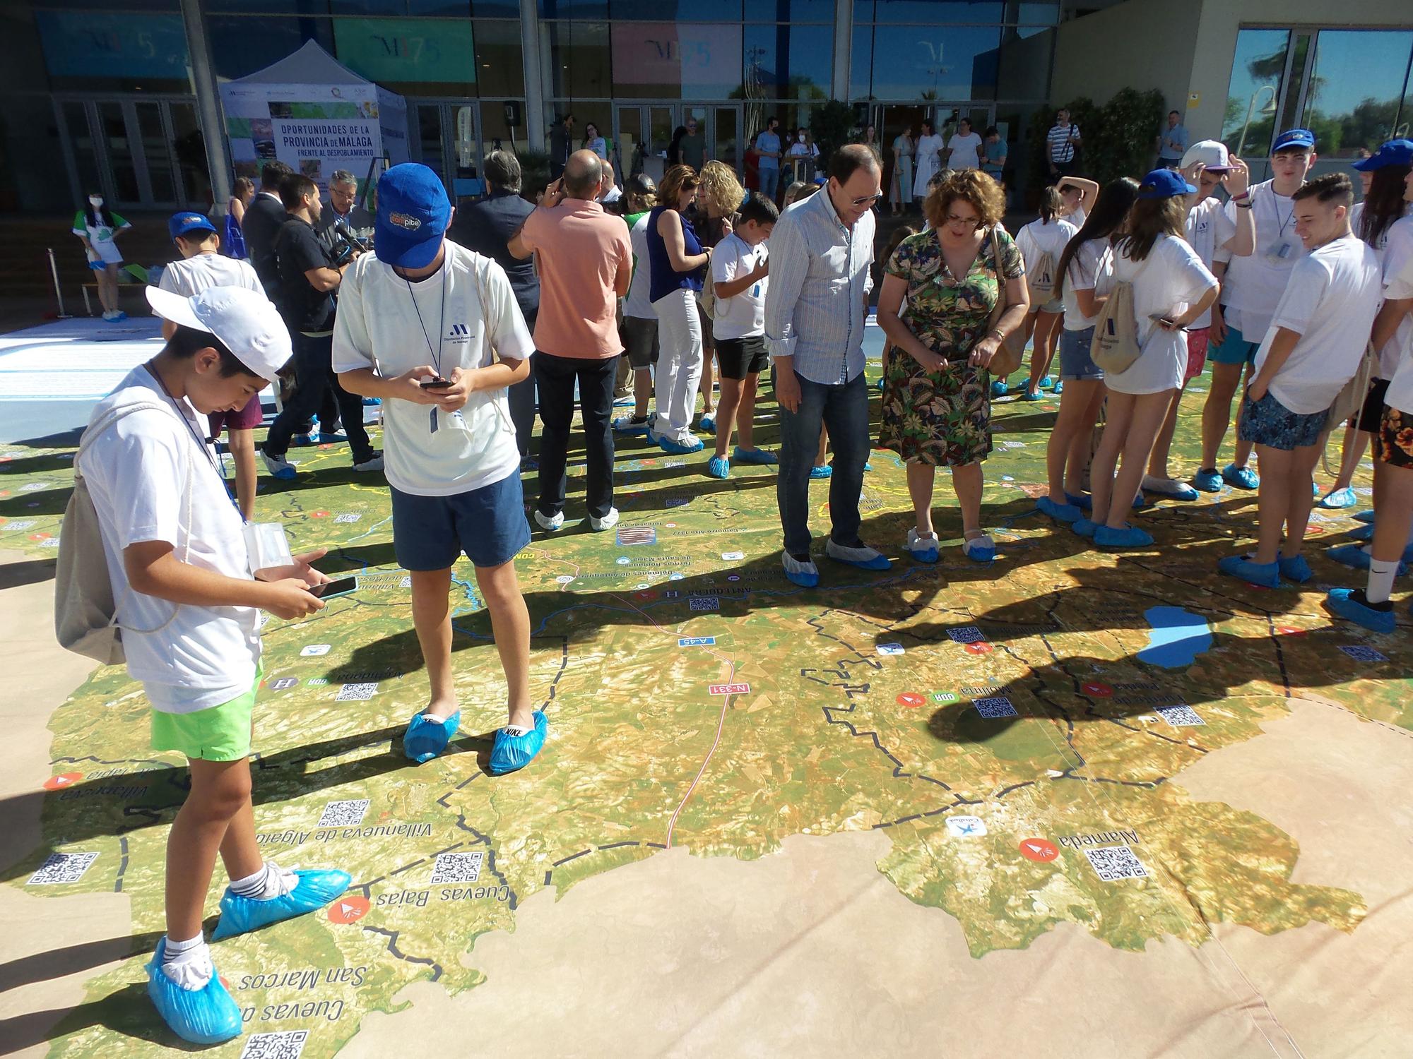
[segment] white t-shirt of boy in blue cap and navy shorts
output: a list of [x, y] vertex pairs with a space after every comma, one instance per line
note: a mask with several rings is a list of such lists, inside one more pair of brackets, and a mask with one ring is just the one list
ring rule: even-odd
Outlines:
[[[451, 378], [452, 369], [493, 364], [492, 350], [524, 360], [534, 342], [504, 270], [490, 258], [448, 239], [445, 263], [424, 280], [408, 282], [376, 254], [343, 274], [335, 371], [370, 367], [391, 378], [432, 364]], [[445, 497], [516, 473], [520, 449], [504, 388], [472, 394], [459, 412], [437, 411], [435, 431], [431, 412], [413, 401], [383, 402], [384, 472], [396, 489]]]

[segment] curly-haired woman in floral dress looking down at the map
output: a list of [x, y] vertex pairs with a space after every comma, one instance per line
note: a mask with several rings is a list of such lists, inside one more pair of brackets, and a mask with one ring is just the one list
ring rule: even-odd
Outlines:
[[[907, 463], [917, 514], [907, 549], [920, 562], [937, 562], [938, 466], [952, 472], [962, 552], [975, 562], [996, 558], [996, 545], [981, 527], [981, 463], [991, 452], [986, 366], [1006, 335], [1022, 326], [1029, 305], [1020, 251], [996, 229], [1003, 209], [1000, 185], [991, 176], [979, 169], [954, 172], [923, 203], [931, 229], [903, 240], [885, 271], [877, 319], [893, 353], [883, 376], [879, 446]], [[992, 326], [1000, 284], [1006, 311]]]

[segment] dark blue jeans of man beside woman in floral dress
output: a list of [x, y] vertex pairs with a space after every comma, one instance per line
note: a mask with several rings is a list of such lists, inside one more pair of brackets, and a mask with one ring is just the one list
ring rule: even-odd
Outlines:
[[808, 378], [800, 383], [800, 411], [780, 407], [780, 473], [776, 500], [786, 551], [810, 551], [810, 467], [820, 450], [820, 425], [829, 428], [834, 474], [829, 479], [829, 537], [842, 545], [859, 539], [859, 491], [863, 465], [869, 459], [869, 387], [861, 371], [842, 385], [824, 385]]

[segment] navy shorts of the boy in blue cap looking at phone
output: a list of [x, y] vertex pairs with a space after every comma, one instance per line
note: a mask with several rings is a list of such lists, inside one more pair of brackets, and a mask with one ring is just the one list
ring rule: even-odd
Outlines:
[[445, 570], [462, 552], [475, 566], [499, 566], [530, 544], [519, 467], [500, 481], [449, 497], [391, 493], [393, 554], [403, 569]]

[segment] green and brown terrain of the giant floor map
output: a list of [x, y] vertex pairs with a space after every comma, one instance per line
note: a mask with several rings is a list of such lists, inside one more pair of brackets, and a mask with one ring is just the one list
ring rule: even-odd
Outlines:
[[[331, 914], [213, 947], [247, 1032], [308, 1031], [304, 1055], [332, 1055], [363, 1012], [396, 1010], [410, 981], [476, 986], [475, 939], [514, 931], [517, 905], [541, 888], [564, 894], [667, 846], [762, 857], [800, 833], [883, 829], [892, 850], [879, 870], [955, 916], [976, 957], [1061, 922], [1133, 950], [1163, 935], [1200, 945], [1215, 921], [1354, 931], [1364, 898], [1293, 884], [1299, 849], [1284, 832], [1170, 782], [1284, 716], [1290, 695], [1413, 727], [1406, 637], [1332, 624], [1318, 604], [1332, 585], [1362, 583], [1323, 558], [1358, 525], [1352, 513], [1313, 515], [1317, 578], [1303, 590], [1217, 576], [1217, 559], [1249, 542], [1248, 493], [1136, 511], [1157, 538], [1150, 549], [1084, 548], [1034, 510], [1054, 405], [996, 405], [985, 494], [995, 569], [961, 556], [945, 472], [941, 562], [900, 558], [911, 525], [903, 467], [876, 450], [863, 538], [894, 566], [821, 558], [817, 590], [780, 570], [774, 469], [718, 481], [704, 474], [709, 452], [664, 457], [620, 441], [617, 530], [577, 524], [582, 479], [571, 477], [567, 528], [537, 531], [517, 561], [531, 682], [551, 727], [541, 757], [499, 779], [482, 770], [504, 682], [471, 569], [458, 566], [454, 618], [462, 733], [454, 753], [414, 767], [398, 740], [427, 678], [387, 490], [352, 474], [343, 446], [298, 450], [305, 473], [263, 479], [259, 517], [278, 513], [297, 551], [328, 545], [325, 568], [363, 580], [311, 620], [264, 626], [256, 822], [283, 867], [342, 867], [355, 887]], [[1188, 472], [1200, 408], [1190, 395], [1174, 455]], [[571, 462], [582, 474], [582, 450]], [[0, 546], [54, 555], [71, 479], [71, 453], [0, 449]], [[1356, 486], [1366, 491], [1366, 469]], [[811, 500], [822, 535], [827, 481]], [[1211, 645], [1180, 668], [1139, 659], [1153, 606], [1200, 616]], [[1005, 713], [1002, 700], [1015, 716], [983, 716]], [[1177, 705], [1202, 723], [1157, 712]], [[124, 1035], [172, 1043], [143, 998], [143, 963], [162, 929], [164, 846], [185, 771], [147, 750], [147, 706], [122, 671], [97, 671], [51, 727], [62, 779], [44, 798], [45, 846], [6, 878], [31, 894], [122, 890], [134, 933], [131, 959], [88, 983], [51, 1055], [113, 1055]], [[958, 816], [979, 826], [948, 823]], [[30, 884], [54, 851], [97, 857], [75, 882]], [[1142, 877], [1122, 877], [1135, 860]]]

